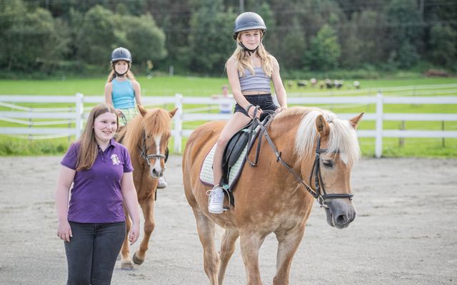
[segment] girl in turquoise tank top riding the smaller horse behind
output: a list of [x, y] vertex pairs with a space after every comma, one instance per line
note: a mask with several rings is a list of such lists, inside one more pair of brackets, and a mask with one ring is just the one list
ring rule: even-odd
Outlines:
[[[131, 53], [127, 48], [115, 48], [111, 53], [111, 72], [105, 86], [105, 102], [116, 108], [123, 125], [138, 115], [141, 104], [141, 86], [131, 72]], [[159, 177], [158, 188], [165, 188], [165, 177]]]

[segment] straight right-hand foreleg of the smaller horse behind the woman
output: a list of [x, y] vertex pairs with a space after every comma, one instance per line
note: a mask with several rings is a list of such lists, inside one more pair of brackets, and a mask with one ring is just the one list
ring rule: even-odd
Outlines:
[[144, 259], [146, 259], [146, 251], [149, 249], [149, 239], [151, 238], [152, 231], [154, 231], [154, 227], [156, 227], [156, 223], [154, 222], [154, 195], [146, 199], [141, 199], [139, 204], [144, 215], [144, 237], [141, 240], [139, 249], [136, 250], [134, 257], [132, 257], [135, 264], [142, 264]]

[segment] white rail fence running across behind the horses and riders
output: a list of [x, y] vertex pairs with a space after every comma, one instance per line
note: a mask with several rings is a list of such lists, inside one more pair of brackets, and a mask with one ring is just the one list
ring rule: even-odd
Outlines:
[[[192, 130], [183, 129], [184, 122], [227, 120], [230, 114], [219, 113], [193, 113], [193, 110], [184, 109], [186, 104], [219, 105], [231, 99], [213, 99], [204, 97], [184, 97], [176, 94], [174, 97], [147, 97], [143, 103], [149, 105], [171, 104], [178, 108], [174, 117], [174, 150], [181, 153], [182, 139], [189, 137]], [[9, 123], [25, 124], [27, 127], [2, 127], [0, 134], [3, 135], [25, 135], [39, 138], [57, 138], [75, 136], [79, 138], [88, 108], [85, 103], [93, 105], [104, 101], [103, 96], [84, 96], [77, 93], [74, 96], [41, 96], [41, 95], [0, 95], [0, 120]], [[69, 108], [26, 108], [12, 103], [69, 103]], [[383, 121], [457, 121], [456, 113], [384, 113], [383, 106], [386, 104], [456, 104], [457, 96], [434, 96], [434, 97], [388, 97], [378, 93], [376, 96], [352, 96], [352, 97], [289, 97], [289, 104], [316, 105], [316, 104], [354, 104], [354, 105], [376, 105], [376, 113], [366, 113], [363, 120], [376, 121], [373, 130], [358, 130], [358, 136], [362, 138], [375, 138], [375, 154], [381, 157], [383, 138], [457, 138], [457, 131], [453, 130], [384, 130]], [[11, 110], [5, 110], [10, 108]], [[202, 108], [199, 108], [201, 110]], [[352, 118], [356, 113], [338, 113], [340, 118]], [[43, 121], [45, 119], [51, 121]], [[69, 124], [69, 128], [34, 128], [39, 125], [62, 125]]]

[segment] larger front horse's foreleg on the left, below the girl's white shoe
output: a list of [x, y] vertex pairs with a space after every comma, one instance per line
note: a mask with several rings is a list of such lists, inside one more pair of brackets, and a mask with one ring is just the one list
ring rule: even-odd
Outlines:
[[246, 284], [261, 285], [258, 267], [258, 251], [265, 240], [266, 234], [260, 232], [240, 231], [241, 255], [246, 269]]

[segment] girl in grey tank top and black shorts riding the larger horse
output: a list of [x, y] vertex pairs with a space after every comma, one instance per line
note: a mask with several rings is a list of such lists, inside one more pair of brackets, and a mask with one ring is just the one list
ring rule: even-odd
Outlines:
[[[263, 110], [281, 112], [287, 108], [286, 90], [279, 75], [279, 64], [263, 46], [266, 25], [261, 16], [253, 12], [240, 14], [233, 28], [237, 47], [226, 63], [227, 76], [236, 100], [235, 113], [217, 140], [214, 152], [214, 188], [209, 193], [208, 210], [212, 214], [224, 212], [224, 190], [221, 187], [222, 156], [229, 139], [253, 119], [258, 105], [257, 118], [263, 118]], [[271, 98], [270, 81], [276, 91], [280, 108]]]

